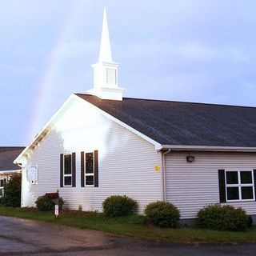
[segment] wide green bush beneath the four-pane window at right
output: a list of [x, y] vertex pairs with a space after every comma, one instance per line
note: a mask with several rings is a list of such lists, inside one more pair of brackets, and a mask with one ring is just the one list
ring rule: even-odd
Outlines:
[[198, 226], [210, 230], [242, 231], [250, 225], [250, 217], [242, 208], [212, 205], [198, 211]]

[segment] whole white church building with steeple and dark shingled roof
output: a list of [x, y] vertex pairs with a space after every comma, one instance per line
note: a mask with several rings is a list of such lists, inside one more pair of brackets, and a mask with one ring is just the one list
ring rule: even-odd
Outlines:
[[71, 94], [15, 163], [22, 206], [59, 191], [66, 207], [102, 211], [113, 194], [172, 202], [183, 220], [214, 203], [256, 216], [256, 108], [123, 97], [104, 11], [87, 94]]

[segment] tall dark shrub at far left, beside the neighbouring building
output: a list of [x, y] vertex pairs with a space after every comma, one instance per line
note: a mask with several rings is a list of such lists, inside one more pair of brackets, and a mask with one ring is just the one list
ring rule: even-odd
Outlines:
[[21, 206], [22, 174], [14, 174], [3, 187], [2, 205], [8, 207]]

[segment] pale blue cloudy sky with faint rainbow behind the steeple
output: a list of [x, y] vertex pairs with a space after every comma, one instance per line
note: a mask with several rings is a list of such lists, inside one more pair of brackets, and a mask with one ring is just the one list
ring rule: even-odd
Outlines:
[[254, 0], [0, 2], [0, 146], [92, 87], [106, 6], [126, 97], [256, 106]]

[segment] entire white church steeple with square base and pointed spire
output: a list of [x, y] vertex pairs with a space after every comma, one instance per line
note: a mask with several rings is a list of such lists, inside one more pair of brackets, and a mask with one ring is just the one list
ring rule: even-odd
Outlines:
[[94, 88], [88, 92], [98, 96], [98, 98], [122, 101], [124, 89], [118, 87], [118, 66], [119, 63], [113, 62], [112, 58], [110, 34], [105, 8], [98, 63], [92, 65], [94, 68]]

